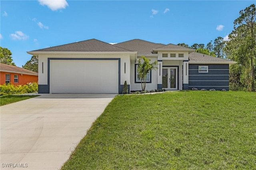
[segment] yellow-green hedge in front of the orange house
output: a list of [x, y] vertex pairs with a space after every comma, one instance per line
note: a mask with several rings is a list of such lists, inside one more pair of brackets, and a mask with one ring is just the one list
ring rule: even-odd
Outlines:
[[7, 85], [0, 85], [0, 95], [13, 95], [22, 93], [35, 93], [38, 92], [37, 83], [28, 83], [26, 85], [13, 85], [8, 83]]

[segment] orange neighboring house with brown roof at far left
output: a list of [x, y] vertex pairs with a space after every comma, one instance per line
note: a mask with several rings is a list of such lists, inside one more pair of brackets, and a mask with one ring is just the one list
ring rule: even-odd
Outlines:
[[38, 82], [38, 73], [0, 63], [0, 84], [12, 83], [13, 85], [24, 85], [27, 83]]

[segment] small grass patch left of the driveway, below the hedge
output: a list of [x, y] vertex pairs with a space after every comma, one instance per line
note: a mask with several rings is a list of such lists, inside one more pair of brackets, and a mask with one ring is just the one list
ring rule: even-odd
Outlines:
[[32, 97], [37, 97], [39, 95], [6, 95], [0, 97], [0, 106], [8, 105], [10, 103], [15, 103], [17, 101], [22, 101], [26, 99], [30, 99]]

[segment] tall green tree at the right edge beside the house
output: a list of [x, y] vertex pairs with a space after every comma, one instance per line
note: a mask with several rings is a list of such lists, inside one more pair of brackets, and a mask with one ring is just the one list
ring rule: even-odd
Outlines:
[[[237, 61], [238, 66], [232, 66], [230, 73], [240, 73], [235, 76], [248, 91], [256, 91], [256, 7], [255, 4], [239, 12], [240, 16], [234, 21], [234, 30], [228, 35], [230, 41], [224, 48], [229, 59]], [[234, 74], [236, 75], [236, 74]], [[238, 84], [238, 83], [237, 83]]]

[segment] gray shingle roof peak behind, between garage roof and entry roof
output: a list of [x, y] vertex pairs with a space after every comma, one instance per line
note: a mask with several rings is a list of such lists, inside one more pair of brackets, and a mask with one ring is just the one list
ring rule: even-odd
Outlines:
[[152, 43], [140, 39], [116, 43], [114, 45], [117, 47], [129, 49], [130, 51], [138, 51], [138, 55], [150, 55], [152, 49], [164, 46], [164, 44], [161, 43]]

